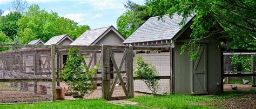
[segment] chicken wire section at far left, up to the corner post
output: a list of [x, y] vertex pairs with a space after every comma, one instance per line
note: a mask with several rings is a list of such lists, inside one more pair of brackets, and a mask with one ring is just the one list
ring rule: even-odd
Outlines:
[[[50, 49], [0, 52], [0, 79], [51, 79], [50, 56]], [[51, 87], [43, 81], [1, 82], [0, 103], [49, 101]]]

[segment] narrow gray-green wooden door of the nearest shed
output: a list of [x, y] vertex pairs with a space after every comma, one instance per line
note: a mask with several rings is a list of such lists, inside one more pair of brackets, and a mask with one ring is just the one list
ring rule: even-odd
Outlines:
[[191, 61], [191, 94], [207, 94], [206, 44], [200, 44], [199, 56]]

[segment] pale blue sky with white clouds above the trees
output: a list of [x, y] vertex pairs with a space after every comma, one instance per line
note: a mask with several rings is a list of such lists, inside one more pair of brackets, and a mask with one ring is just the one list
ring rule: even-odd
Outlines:
[[[26, 0], [29, 5], [38, 4], [41, 9], [58, 12], [59, 16], [72, 19], [80, 25], [89, 25], [91, 29], [113, 25], [124, 13], [127, 0]], [[131, 0], [143, 4], [144, 0]], [[4, 15], [11, 9], [11, 0], [0, 0], [0, 9]]]

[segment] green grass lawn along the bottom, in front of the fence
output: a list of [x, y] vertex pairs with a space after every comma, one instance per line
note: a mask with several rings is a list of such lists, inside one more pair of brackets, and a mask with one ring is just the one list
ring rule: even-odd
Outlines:
[[16, 104], [0, 105], [0, 108], [217, 108], [209, 106], [214, 103], [229, 100], [231, 97], [236, 100], [251, 100], [250, 97], [241, 97], [242, 94], [255, 94], [256, 90], [251, 91], [233, 91], [214, 96], [190, 96], [184, 94], [175, 94], [168, 96], [140, 96], [132, 99], [138, 106], [131, 105], [114, 105], [103, 99], [91, 100], [74, 100], [74, 101], [57, 101], [55, 103], [35, 103], [35, 104]]

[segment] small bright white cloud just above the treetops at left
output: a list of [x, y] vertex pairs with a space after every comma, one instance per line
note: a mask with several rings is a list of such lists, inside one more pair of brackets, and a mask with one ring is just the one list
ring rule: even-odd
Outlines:
[[84, 17], [86, 17], [86, 13], [69, 13], [66, 14], [64, 17], [69, 18], [75, 22], [82, 22], [84, 21]]

